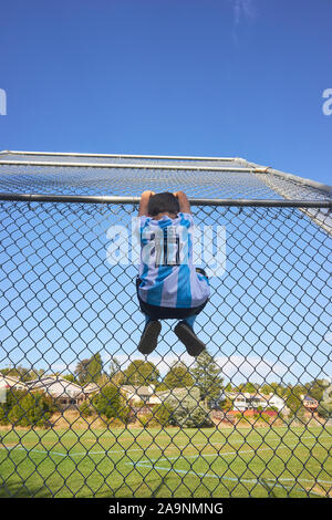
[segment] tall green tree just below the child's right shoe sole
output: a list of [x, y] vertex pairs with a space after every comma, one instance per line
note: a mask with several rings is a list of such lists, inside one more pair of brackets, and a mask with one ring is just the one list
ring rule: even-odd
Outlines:
[[220, 368], [214, 357], [205, 350], [196, 358], [193, 370], [194, 382], [200, 392], [200, 399], [207, 403], [209, 399], [218, 399], [222, 391], [222, 377]]

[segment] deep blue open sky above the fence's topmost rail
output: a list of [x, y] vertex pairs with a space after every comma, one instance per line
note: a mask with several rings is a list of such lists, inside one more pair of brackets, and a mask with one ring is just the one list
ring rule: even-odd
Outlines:
[[331, 0], [3, 2], [0, 148], [239, 156], [332, 184]]

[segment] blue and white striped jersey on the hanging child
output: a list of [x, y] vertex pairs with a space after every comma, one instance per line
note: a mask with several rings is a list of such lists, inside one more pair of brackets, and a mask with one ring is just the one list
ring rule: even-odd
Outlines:
[[141, 284], [138, 293], [151, 305], [195, 308], [209, 297], [209, 282], [193, 262], [194, 219], [139, 217]]

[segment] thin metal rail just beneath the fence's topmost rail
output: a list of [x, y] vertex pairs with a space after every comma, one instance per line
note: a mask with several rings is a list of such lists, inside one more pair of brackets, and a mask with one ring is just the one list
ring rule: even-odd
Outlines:
[[263, 174], [266, 168], [226, 167], [226, 166], [191, 166], [191, 165], [162, 165], [162, 164], [131, 164], [131, 163], [59, 163], [51, 160], [0, 160], [0, 165], [7, 166], [49, 166], [55, 168], [129, 168], [129, 169], [168, 169], [168, 170], [195, 170], [195, 171], [242, 171]]

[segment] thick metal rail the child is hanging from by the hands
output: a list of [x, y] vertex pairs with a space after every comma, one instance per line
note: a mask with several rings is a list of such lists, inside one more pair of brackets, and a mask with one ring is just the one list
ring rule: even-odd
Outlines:
[[[117, 197], [112, 195], [49, 195], [49, 194], [0, 194], [0, 200], [25, 202], [77, 202], [77, 204], [139, 204], [141, 197]], [[207, 199], [189, 198], [193, 206], [252, 206], [269, 208], [330, 208], [332, 200], [290, 199]]]

